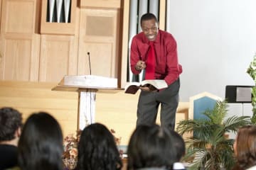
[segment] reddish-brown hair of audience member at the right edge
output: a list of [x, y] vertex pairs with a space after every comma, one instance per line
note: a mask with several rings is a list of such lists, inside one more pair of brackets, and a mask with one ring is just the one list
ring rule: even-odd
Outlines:
[[240, 169], [256, 165], [256, 126], [246, 125], [238, 130], [234, 152]]

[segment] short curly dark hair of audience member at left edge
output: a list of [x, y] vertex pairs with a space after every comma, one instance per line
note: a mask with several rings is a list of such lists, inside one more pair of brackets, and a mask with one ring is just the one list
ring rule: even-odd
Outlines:
[[0, 141], [14, 140], [15, 132], [22, 126], [22, 115], [14, 108], [0, 109]]

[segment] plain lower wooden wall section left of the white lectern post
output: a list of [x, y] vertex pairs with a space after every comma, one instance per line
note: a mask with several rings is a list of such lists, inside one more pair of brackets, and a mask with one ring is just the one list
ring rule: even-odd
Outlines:
[[64, 135], [74, 133], [78, 119], [78, 93], [51, 91], [53, 83], [0, 81], [0, 107], [13, 107], [23, 113], [46, 111], [60, 123]]

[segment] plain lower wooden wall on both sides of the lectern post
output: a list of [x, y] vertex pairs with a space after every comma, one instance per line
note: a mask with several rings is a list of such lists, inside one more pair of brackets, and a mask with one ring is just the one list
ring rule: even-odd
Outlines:
[[[78, 93], [52, 91], [55, 83], [29, 81], [0, 81], [0, 107], [9, 106], [23, 113], [23, 119], [33, 112], [46, 111], [60, 123], [64, 135], [75, 133], [78, 125]], [[95, 121], [103, 123], [122, 137], [121, 145], [127, 145], [137, 120], [139, 93], [96, 94]], [[176, 123], [188, 118], [189, 103], [179, 103]], [[159, 117], [157, 118], [159, 123]]]

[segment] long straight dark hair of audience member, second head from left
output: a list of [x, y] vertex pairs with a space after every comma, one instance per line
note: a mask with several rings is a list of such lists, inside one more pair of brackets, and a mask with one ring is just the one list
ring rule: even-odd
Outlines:
[[63, 133], [52, 115], [31, 114], [18, 141], [18, 165], [22, 170], [63, 170]]

